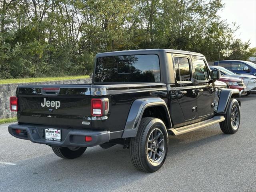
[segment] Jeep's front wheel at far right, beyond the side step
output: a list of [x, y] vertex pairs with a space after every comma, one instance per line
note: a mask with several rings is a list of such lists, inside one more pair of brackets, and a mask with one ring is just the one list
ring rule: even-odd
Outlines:
[[225, 120], [220, 122], [220, 129], [225, 134], [234, 134], [240, 125], [240, 106], [236, 99], [231, 99], [228, 105]]

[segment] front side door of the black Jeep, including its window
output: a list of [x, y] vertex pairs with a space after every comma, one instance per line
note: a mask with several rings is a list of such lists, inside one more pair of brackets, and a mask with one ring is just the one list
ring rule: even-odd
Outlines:
[[210, 80], [210, 71], [203, 58], [193, 57], [196, 84], [196, 106], [198, 116], [210, 116], [214, 112], [214, 89]]

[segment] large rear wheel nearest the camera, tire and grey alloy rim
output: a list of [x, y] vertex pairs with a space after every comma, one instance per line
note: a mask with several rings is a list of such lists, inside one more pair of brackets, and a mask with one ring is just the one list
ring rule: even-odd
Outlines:
[[168, 134], [164, 122], [157, 118], [142, 118], [137, 136], [130, 141], [130, 157], [135, 168], [155, 172], [167, 156]]

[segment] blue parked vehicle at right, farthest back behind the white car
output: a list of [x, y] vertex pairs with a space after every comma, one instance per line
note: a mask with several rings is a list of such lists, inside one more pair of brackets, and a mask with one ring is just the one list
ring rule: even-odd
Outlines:
[[215, 61], [214, 66], [222, 66], [236, 74], [256, 76], [256, 64], [250, 61], [224, 60]]

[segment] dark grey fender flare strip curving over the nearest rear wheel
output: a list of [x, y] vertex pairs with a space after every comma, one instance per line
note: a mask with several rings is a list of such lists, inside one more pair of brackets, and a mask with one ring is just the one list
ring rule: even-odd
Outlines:
[[169, 124], [172, 127], [169, 110], [164, 100], [161, 98], [140, 98], [134, 100], [131, 105], [122, 138], [135, 137], [137, 135], [144, 110], [151, 106], [163, 106], [168, 115]]

